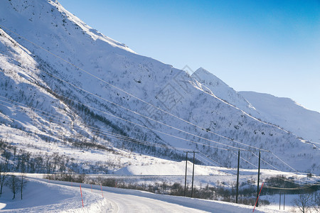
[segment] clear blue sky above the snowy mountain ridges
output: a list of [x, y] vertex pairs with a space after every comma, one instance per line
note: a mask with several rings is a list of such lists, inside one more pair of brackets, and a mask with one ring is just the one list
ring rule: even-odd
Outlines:
[[320, 112], [320, 1], [59, 0], [140, 55]]

